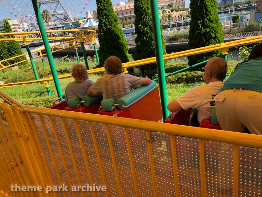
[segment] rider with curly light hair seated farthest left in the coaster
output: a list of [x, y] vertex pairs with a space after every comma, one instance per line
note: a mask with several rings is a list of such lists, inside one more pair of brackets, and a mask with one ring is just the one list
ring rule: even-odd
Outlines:
[[88, 78], [88, 72], [83, 64], [75, 64], [71, 68], [72, 77], [75, 81], [70, 82], [65, 88], [65, 101], [71, 97], [82, 98], [87, 94], [89, 88], [94, 84]]

